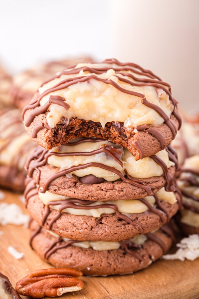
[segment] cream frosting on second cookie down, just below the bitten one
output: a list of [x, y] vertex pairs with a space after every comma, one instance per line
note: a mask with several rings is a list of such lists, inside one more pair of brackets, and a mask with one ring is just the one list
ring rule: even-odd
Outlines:
[[[115, 169], [121, 171], [123, 175], [125, 175], [124, 169], [126, 169], [130, 176], [139, 179], [163, 175], [162, 167], [158, 165], [152, 158], [146, 157], [136, 161], [135, 157], [127, 149], [119, 147], [109, 141], [83, 142], [81, 144], [73, 146], [62, 145], [60, 147], [54, 147], [50, 150], [50, 152], [91, 152], [95, 149], [101, 148], [104, 144], [109, 146], [116, 146], [117, 148], [121, 149], [121, 161], [123, 163], [123, 166], [121, 166], [117, 161], [115, 161], [112, 157], [104, 152], [90, 156], [73, 155], [58, 157], [52, 155], [48, 158], [48, 164], [55, 167], [60, 167], [61, 169], [67, 169], [73, 165], [95, 162], [114, 167]], [[172, 161], [169, 160], [166, 149], [158, 152], [156, 156], [162, 159], [168, 168], [175, 165]], [[78, 177], [92, 174], [98, 178], [104, 178], [107, 181], [115, 181], [119, 179], [119, 176], [117, 174], [99, 167], [87, 167], [85, 169], [75, 170], [70, 173], [70, 175], [72, 174], [75, 174]]]

